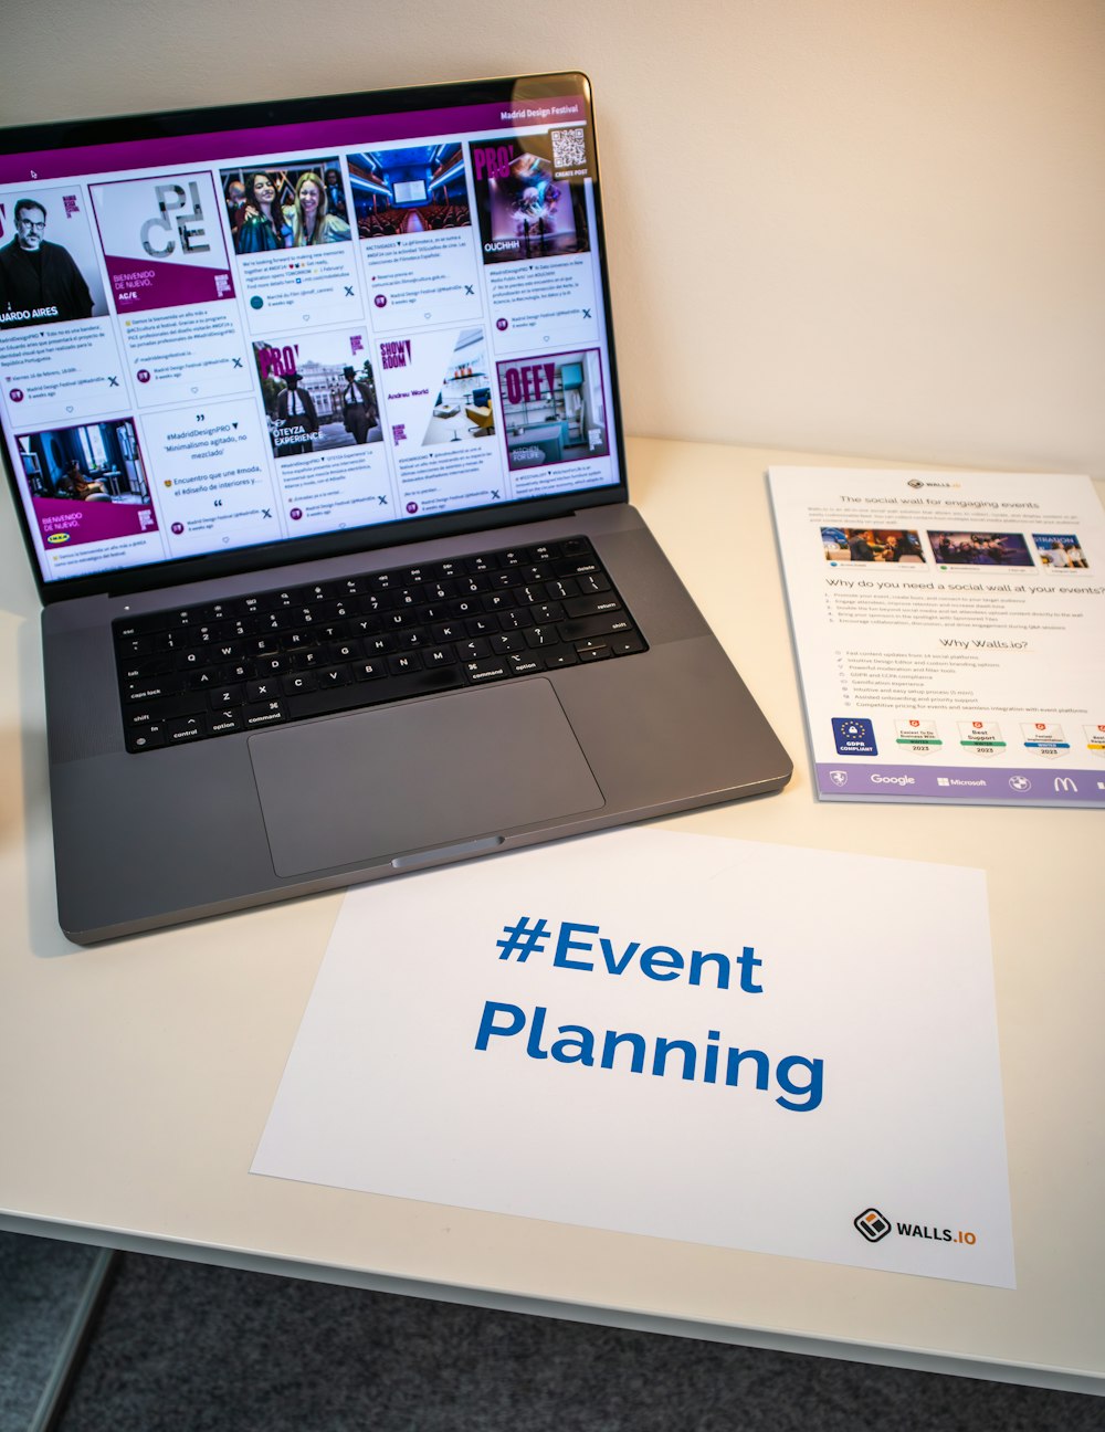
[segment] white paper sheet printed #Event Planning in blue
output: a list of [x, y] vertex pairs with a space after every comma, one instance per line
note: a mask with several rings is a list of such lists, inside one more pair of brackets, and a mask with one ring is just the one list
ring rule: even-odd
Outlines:
[[985, 876], [625, 831], [351, 891], [252, 1171], [1012, 1287]]

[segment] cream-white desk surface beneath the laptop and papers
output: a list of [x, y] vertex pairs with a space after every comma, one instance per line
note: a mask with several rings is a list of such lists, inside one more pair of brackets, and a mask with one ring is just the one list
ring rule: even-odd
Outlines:
[[865, 465], [630, 444], [637, 504], [796, 759], [780, 795], [668, 823], [985, 866], [1015, 1292], [252, 1177], [342, 896], [96, 949], [64, 939], [53, 906], [37, 597], [7, 497], [0, 498], [0, 659], [10, 673], [0, 687], [0, 1226], [657, 1332], [1105, 1392], [1101, 812], [817, 802], [763, 477], [769, 463], [784, 461]]

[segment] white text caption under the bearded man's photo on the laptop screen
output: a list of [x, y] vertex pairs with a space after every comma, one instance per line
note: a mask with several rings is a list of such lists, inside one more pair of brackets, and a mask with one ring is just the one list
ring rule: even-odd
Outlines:
[[0, 334], [0, 392], [13, 425], [129, 410], [123, 375], [107, 319]]

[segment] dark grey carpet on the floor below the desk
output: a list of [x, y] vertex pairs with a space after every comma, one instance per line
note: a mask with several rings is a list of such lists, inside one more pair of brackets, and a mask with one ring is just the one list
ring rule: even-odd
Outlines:
[[[44, 1282], [23, 1286], [23, 1309], [10, 1306], [11, 1249], [0, 1243], [0, 1329], [13, 1316], [53, 1316], [44, 1264], [59, 1260], [60, 1297], [63, 1267], [84, 1252], [21, 1242], [40, 1244]], [[49, 1340], [46, 1323], [42, 1335]], [[31, 1342], [20, 1355], [26, 1380]], [[0, 1356], [11, 1362], [7, 1349]], [[0, 1426], [24, 1423], [13, 1411]], [[123, 1254], [57, 1423], [57, 1432], [899, 1428], [1102, 1432], [1105, 1400]]]

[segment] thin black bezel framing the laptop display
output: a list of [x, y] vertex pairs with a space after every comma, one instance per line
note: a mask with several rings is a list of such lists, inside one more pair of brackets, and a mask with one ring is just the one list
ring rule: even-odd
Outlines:
[[33, 155], [57, 149], [80, 149], [142, 139], [173, 139], [210, 135], [220, 130], [263, 127], [266, 125], [295, 125], [334, 119], [371, 119], [379, 115], [415, 110], [452, 109], [468, 105], [511, 105], [580, 95], [587, 103], [594, 145], [594, 246], [598, 255], [600, 282], [605, 315], [605, 352], [610, 381], [611, 427], [617, 454], [617, 481], [597, 488], [561, 493], [550, 497], [518, 498], [464, 511], [414, 517], [368, 527], [354, 527], [322, 536], [285, 537], [278, 543], [239, 547], [232, 553], [205, 553], [198, 557], [163, 558], [157, 563], [100, 571], [92, 576], [66, 577], [46, 581], [39, 567], [34, 534], [23, 508], [16, 473], [7, 445], [3, 447], [4, 470], [11, 488], [23, 541], [43, 603], [87, 596], [125, 596], [159, 587], [182, 586], [209, 577], [258, 571], [273, 566], [292, 566], [321, 557], [374, 551], [381, 547], [435, 537], [464, 534], [474, 530], [507, 527], [521, 521], [540, 521], [565, 516], [580, 508], [625, 503], [628, 487], [618, 398], [617, 358], [610, 316], [610, 275], [607, 271], [605, 233], [603, 225], [601, 179], [598, 145], [594, 133], [591, 84], [580, 72], [551, 72], [501, 79], [468, 80], [411, 86], [402, 89], [366, 90], [323, 95], [288, 100], [268, 100], [202, 109], [167, 110], [137, 116], [107, 116], [93, 120], [60, 120], [50, 125], [26, 125], [0, 130], [0, 155]]

